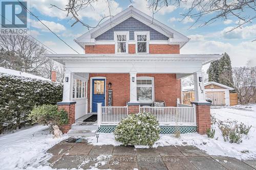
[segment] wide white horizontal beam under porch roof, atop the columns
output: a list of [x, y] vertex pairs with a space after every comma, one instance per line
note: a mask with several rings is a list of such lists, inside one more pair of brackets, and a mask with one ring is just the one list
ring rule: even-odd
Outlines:
[[66, 68], [71, 72], [94, 73], [156, 73], [156, 74], [182, 74], [196, 72], [202, 69], [200, 62], [99, 62], [99, 61], [68, 61]]

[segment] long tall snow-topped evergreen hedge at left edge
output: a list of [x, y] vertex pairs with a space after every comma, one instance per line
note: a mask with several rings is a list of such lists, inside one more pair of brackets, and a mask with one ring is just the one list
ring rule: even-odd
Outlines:
[[61, 83], [0, 73], [0, 133], [30, 124], [33, 107], [55, 105], [62, 89]]

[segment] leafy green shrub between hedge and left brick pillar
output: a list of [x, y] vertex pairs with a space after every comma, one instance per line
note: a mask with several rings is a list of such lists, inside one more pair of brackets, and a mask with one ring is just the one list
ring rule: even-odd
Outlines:
[[69, 122], [68, 112], [63, 109], [58, 111], [57, 105], [35, 106], [28, 115], [28, 119], [39, 125], [47, 125], [50, 128], [50, 133], [53, 131], [54, 125], [60, 128]]

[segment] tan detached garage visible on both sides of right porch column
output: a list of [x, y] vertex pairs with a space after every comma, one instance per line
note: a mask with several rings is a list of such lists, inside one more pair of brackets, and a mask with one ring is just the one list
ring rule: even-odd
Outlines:
[[[183, 103], [190, 104], [195, 101], [194, 86], [185, 86], [183, 90]], [[205, 98], [212, 101], [214, 106], [233, 106], [238, 104], [237, 93], [230, 93], [234, 88], [217, 82], [204, 83]]]

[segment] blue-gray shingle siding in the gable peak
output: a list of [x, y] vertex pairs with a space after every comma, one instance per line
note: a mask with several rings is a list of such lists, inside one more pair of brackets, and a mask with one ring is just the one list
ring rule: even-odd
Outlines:
[[149, 31], [150, 32], [150, 40], [168, 40], [169, 38], [165, 35], [159, 33], [158, 31], [148, 27], [141, 21], [130, 17], [112, 29], [104, 32], [95, 38], [96, 41], [111, 41], [114, 40], [114, 31], [129, 31], [130, 40], [134, 40], [134, 32], [135, 31]]

